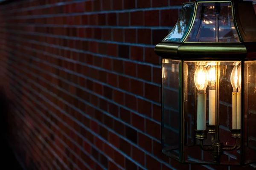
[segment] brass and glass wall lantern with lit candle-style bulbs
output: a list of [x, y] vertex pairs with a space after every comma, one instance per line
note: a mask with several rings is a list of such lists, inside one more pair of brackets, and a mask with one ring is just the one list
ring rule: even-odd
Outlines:
[[252, 2], [184, 3], [156, 45], [162, 152], [189, 164], [256, 162], [256, 15]]

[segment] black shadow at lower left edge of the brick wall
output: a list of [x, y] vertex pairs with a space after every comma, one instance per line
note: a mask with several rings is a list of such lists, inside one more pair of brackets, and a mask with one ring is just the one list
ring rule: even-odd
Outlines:
[[0, 88], [0, 140], [1, 140], [1, 167], [6, 167], [8, 170], [23, 170], [20, 166], [20, 163], [15, 158], [15, 154], [13, 153], [11, 147], [8, 143], [8, 109], [9, 102], [3, 91], [3, 88]]

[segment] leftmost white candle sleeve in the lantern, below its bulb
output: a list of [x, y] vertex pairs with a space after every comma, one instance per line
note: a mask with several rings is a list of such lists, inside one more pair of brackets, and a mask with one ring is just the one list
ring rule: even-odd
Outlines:
[[197, 130], [206, 130], [206, 94], [197, 95]]

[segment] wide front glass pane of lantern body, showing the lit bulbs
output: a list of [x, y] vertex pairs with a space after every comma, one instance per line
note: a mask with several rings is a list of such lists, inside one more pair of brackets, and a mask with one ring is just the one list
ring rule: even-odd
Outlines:
[[[241, 96], [241, 92], [238, 94], [241, 90], [239, 67], [240, 62], [234, 61], [184, 61], [184, 158], [186, 162], [214, 163], [212, 151], [202, 150], [196, 132], [197, 130], [206, 132], [203, 144], [204, 149], [209, 148], [213, 139], [212, 134], [209, 133], [209, 125], [215, 129], [218, 127], [216, 127], [216, 116], [219, 120], [218, 139], [224, 147], [240, 144], [240, 139], [233, 139], [230, 131], [233, 128], [239, 128], [240, 125], [237, 120], [241, 115], [241, 109], [238, 112], [241, 101], [236, 100], [235, 104], [233, 103], [233, 95], [236, 99], [237, 96]], [[233, 78], [233, 70], [236, 73], [235, 78]], [[232, 84], [236, 85], [235, 90]], [[217, 139], [217, 136], [213, 136]], [[240, 164], [239, 150], [225, 151], [220, 157], [220, 164]]]

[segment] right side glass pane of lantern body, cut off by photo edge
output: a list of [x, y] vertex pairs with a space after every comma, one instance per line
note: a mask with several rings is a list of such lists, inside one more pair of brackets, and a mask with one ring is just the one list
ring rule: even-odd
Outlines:
[[256, 161], [256, 61], [244, 63], [244, 156]]

